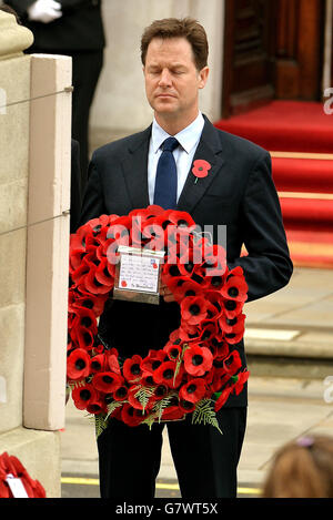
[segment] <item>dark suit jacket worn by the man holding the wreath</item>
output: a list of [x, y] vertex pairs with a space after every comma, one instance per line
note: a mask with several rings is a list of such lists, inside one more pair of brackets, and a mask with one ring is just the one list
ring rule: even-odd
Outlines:
[[[81, 224], [101, 214], [127, 215], [149, 205], [147, 162], [151, 126], [107, 144], [93, 153]], [[209, 175], [194, 184], [189, 172], [176, 208], [190, 213], [202, 228], [228, 227], [226, 256], [232, 268], [244, 269], [249, 302], [287, 284], [292, 274], [280, 203], [271, 175], [269, 153], [255, 144], [215, 129], [205, 118], [194, 160], [211, 164]], [[240, 257], [242, 244], [249, 255]], [[246, 314], [246, 308], [244, 309]], [[109, 299], [100, 320], [100, 334], [127, 355], [161, 348], [179, 326], [176, 303], [160, 306]], [[243, 341], [238, 345], [243, 365]], [[228, 405], [245, 405], [246, 389]]]

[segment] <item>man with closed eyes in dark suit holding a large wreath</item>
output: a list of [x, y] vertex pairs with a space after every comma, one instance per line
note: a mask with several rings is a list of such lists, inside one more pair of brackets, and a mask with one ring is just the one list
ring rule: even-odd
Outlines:
[[[219, 226], [226, 225], [228, 264], [243, 267], [249, 300], [278, 290], [287, 284], [292, 263], [270, 155], [216, 130], [199, 111], [199, 90], [209, 74], [204, 29], [191, 19], [155, 21], [144, 31], [141, 52], [153, 124], [94, 152], [81, 224], [101, 214], [127, 215], [158, 203], [160, 144], [175, 136], [176, 196], [167, 207], [189, 212], [202, 230], [213, 226], [215, 243]], [[194, 160], [211, 165], [208, 176], [198, 182], [192, 174]], [[165, 188], [164, 195], [172, 190]], [[243, 244], [248, 256], [241, 256]], [[179, 305], [163, 288], [160, 306], [110, 298], [99, 333], [122, 356], [143, 355], [149, 348], [162, 348], [179, 324]], [[236, 348], [245, 366], [243, 341]], [[211, 426], [192, 425], [189, 415], [168, 424], [182, 498], [235, 497], [246, 400], [245, 387], [218, 412], [223, 435]], [[102, 498], [154, 496], [163, 426], [154, 424], [149, 430], [145, 425], [131, 428], [111, 420], [98, 439]]]

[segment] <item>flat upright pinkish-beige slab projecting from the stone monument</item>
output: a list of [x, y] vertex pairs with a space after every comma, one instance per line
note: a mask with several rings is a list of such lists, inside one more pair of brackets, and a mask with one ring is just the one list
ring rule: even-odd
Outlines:
[[23, 424], [64, 425], [71, 58], [31, 57]]

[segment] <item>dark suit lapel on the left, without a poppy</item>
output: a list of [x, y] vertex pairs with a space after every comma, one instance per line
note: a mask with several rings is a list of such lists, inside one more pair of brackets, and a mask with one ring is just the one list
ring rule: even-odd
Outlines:
[[134, 135], [122, 162], [128, 196], [133, 210], [149, 205], [148, 151], [151, 126]]

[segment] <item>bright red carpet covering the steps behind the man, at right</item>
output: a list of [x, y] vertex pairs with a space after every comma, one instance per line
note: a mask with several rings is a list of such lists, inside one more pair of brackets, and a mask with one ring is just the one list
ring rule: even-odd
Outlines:
[[[333, 115], [325, 114], [324, 104], [273, 101], [218, 121], [215, 126], [272, 152], [272, 173], [294, 264], [332, 268]], [[285, 156], [274, 156], [274, 152]], [[332, 154], [332, 160], [320, 154]]]

